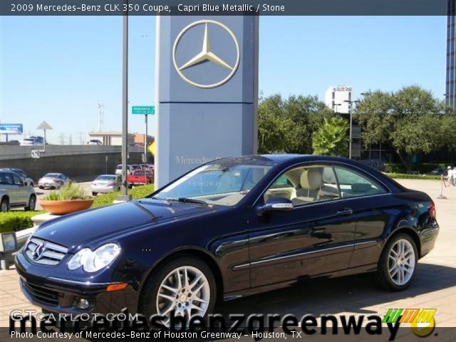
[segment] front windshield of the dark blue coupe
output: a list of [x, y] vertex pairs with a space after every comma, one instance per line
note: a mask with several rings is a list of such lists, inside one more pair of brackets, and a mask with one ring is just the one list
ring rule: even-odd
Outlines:
[[271, 170], [271, 165], [211, 164], [198, 167], [153, 198], [197, 199], [207, 204], [237, 204]]

